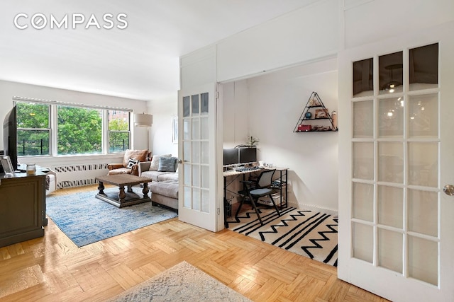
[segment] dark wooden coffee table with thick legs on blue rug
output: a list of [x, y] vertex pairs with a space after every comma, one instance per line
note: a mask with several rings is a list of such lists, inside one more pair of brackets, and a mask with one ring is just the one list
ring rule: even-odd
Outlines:
[[[96, 198], [104, 200], [104, 202], [109, 202], [109, 204], [114, 204], [114, 206], [116, 207], [127, 207], [133, 204], [140, 204], [142, 202], [151, 201], [150, 197], [148, 197], [148, 182], [151, 181], [150, 178], [143, 178], [131, 174], [117, 174], [98, 176], [95, 179], [99, 181], [99, 193], [96, 194]], [[118, 194], [104, 192], [104, 182], [118, 186]], [[140, 197], [138, 194], [135, 194], [132, 189], [133, 185], [139, 185], [141, 183], [143, 184], [142, 197]], [[128, 190], [126, 192], [125, 186], [128, 187]]]

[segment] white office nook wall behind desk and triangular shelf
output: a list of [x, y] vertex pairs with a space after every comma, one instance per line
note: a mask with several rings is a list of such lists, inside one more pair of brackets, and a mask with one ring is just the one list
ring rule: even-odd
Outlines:
[[337, 110], [337, 81], [329, 59], [223, 84], [224, 146], [258, 137], [258, 159], [289, 168], [294, 207], [338, 210], [338, 132], [293, 132], [313, 91]]

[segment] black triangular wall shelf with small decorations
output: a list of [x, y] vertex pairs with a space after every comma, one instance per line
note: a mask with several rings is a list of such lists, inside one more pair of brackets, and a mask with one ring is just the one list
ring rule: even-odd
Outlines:
[[[332, 115], [329, 114], [319, 95], [312, 92], [293, 132], [338, 131], [336, 111], [333, 111]], [[321, 124], [315, 124], [314, 121]]]

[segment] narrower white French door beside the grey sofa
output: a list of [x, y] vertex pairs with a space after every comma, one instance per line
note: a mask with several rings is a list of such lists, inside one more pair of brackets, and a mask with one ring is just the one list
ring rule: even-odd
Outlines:
[[179, 220], [218, 231], [216, 85], [178, 95]]

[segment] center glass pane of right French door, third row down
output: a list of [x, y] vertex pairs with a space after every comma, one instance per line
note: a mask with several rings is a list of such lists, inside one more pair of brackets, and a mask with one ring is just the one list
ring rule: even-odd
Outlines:
[[404, 182], [404, 144], [380, 141], [378, 156], [378, 179], [384, 182]]

